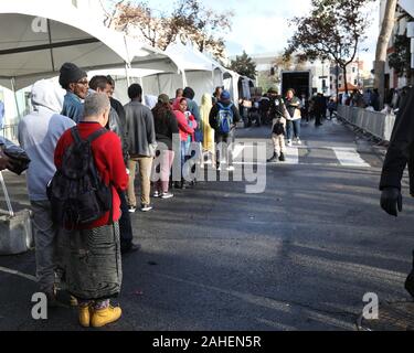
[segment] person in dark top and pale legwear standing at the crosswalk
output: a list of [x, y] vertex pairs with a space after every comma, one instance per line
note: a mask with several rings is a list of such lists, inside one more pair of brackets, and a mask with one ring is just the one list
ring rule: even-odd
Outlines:
[[286, 145], [285, 145], [285, 133], [286, 133], [286, 120], [289, 118], [289, 114], [286, 109], [284, 99], [278, 95], [277, 90], [270, 88], [268, 92], [268, 97], [270, 100], [269, 117], [272, 118], [272, 141], [274, 145], [274, 152], [267, 162], [280, 162], [285, 161]]

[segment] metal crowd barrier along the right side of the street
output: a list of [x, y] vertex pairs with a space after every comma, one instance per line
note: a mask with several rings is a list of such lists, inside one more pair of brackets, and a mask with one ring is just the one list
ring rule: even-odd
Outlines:
[[343, 105], [338, 106], [338, 116], [383, 141], [390, 141], [395, 124], [394, 115]]

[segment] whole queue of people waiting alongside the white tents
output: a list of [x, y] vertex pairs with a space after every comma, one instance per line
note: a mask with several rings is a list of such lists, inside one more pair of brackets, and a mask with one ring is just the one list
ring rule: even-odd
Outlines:
[[[128, 88], [130, 101], [123, 106], [113, 98], [115, 82], [109, 76], [88, 81], [86, 72], [72, 63], [61, 67], [59, 82], [66, 90], [63, 108], [61, 93], [51, 81], [42, 79], [32, 87], [33, 113], [19, 124], [19, 142], [32, 161], [26, 182], [33, 208], [36, 277], [49, 304], [55, 306], [57, 274], [72, 295], [72, 303], [78, 307], [81, 325], [98, 328], [120, 318], [121, 309], [113, 307], [110, 300], [121, 289], [121, 255], [140, 247], [134, 243], [130, 218], [137, 208], [137, 167], [140, 210], [148, 212], [152, 210], [151, 179], [155, 197], [173, 197], [171, 167], [177, 158], [182, 167], [177, 186], [184, 188], [183, 165], [192, 157], [190, 142], [202, 143], [202, 151], [210, 154], [213, 167], [221, 169], [227, 151], [215, 151], [215, 142], [234, 141], [240, 114], [226, 90], [215, 97], [204, 94], [199, 108], [190, 87], [178, 89], [172, 104], [161, 94], [150, 109], [142, 104], [141, 86], [132, 84]], [[179, 157], [173, 148], [177, 140]], [[68, 210], [56, 210], [51, 200], [74, 190], [56, 191], [56, 175], [76, 182], [76, 173], [68, 165], [83, 168], [87, 156], [76, 154], [79, 146], [88, 148], [94, 165], [87, 170], [94, 171], [95, 179], [109, 190], [110, 201], [100, 207], [103, 212], [93, 222], [68, 224], [67, 220], [73, 218], [62, 217], [66, 222], [60, 223], [56, 214]], [[231, 157], [226, 163], [229, 170], [234, 169]], [[160, 178], [153, 180], [151, 176], [157, 173]], [[82, 188], [100, 200], [100, 189]], [[89, 201], [83, 200], [83, 204], [87, 207]]]

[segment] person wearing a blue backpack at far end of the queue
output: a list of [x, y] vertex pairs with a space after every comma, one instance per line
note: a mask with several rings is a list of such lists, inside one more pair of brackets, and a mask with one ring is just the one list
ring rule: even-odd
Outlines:
[[[215, 130], [215, 143], [216, 145], [216, 169], [221, 170], [221, 159], [227, 159], [227, 170], [234, 171], [233, 167], [233, 143], [234, 143], [234, 131], [236, 122], [241, 119], [238, 109], [234, 106], [230, 98], [230, 92], [223, 90], [220, 100], [210, 110], [209, 122], [210, 126]], [[227, 153], [221, 151], [223, 148], [222, 143], [227, 145]], [[222, 153], [223, 152], [223, 153]], [[224, 156], [222, 156], [224, 154]], [[229, 156], [227, 156], [229, 154]]]

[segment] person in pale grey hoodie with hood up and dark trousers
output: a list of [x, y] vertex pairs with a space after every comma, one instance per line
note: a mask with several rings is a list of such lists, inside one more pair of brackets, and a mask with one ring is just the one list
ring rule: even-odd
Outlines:
[[75, 122], [59, 114], [64, 92], [51, 81], [39, 81], [32, 87], [33, 113], [19, 124], [19, 142], [31, 163], [26, 172], [29, 199], [33, 211], [36, 277], [49, 303], [55, 302], [55, 245], [57, 227], [53, 224], [46, 185], [53, 178], [54, 150], [64, 131]]

